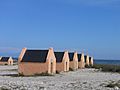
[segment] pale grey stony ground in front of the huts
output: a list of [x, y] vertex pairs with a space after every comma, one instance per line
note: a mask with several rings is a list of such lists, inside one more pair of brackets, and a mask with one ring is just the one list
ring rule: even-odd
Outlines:
[[17, 77], [14, 76], [17, 68], [0, 66], [0, 90], [115, 90], [105, 87], [105, 84], [120, 80], [118, 73], [104, 73], [96, 69], [79, 69], [54, 76]]

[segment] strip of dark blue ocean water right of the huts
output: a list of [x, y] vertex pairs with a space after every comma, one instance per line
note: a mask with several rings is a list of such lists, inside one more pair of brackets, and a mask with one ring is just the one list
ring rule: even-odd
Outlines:
[[120, 60], [94, 60], [95, 64], [120, 65]]

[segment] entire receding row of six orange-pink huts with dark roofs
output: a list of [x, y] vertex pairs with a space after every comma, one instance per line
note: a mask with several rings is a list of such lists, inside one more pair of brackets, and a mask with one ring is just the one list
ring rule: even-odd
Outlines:
[[18, 58], [18, 72], [20, 75], [36, 75], [41, 73], [54, 74], [77, 70], [93, 65], [93, 57], [77, 52], [54, 52], [48, 50], [30, 50], [23, 48]]

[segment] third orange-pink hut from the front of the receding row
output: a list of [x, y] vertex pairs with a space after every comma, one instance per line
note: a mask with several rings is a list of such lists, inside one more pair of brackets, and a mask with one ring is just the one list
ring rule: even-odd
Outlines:
[[78, 69], [78, 56], [77, 52], [75, 53], [69, 53], [69, 59], [70, 59], [70, 69], [77, 70]]

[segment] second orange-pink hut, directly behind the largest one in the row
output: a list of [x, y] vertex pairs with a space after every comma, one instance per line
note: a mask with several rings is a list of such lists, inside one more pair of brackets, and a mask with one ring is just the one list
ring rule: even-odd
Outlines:
[[56, 71], [69, 71], [69, 55], [68, 51], [55, 52], [56, 57]]

